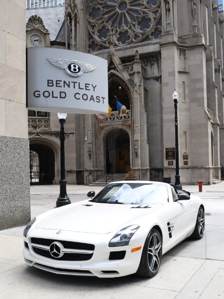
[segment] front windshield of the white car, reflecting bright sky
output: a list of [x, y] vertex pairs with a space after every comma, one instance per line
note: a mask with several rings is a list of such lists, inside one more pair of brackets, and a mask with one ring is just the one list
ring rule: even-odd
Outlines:
[[163, 184], [115, 183], [108, 184], [92, 202], [117, 204], [156, 204], [168, 201], [168, 190]]

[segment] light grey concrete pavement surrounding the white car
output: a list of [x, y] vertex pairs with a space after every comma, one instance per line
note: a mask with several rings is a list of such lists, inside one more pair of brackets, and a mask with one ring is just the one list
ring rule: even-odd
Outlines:
[[[24, 227], [0, 231], [0, 299], [224, 299], [224, 181], [216, 185], [182, 186], [202, 197], [206, 231], [167, 252], [152, 279], [135, 275], [116, 279], [60, 276], [25, 265]], [[102, 187], [67, 185], [71, 202]], [[59, 185], [30, 187], [31, 218], [55, 208]]]

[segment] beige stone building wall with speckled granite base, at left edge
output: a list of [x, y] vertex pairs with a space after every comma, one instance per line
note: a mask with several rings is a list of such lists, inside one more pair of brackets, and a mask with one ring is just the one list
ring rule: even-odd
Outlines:
[[24, 1], [1, 1], [0, 230], [30, 220], [25, 45]]

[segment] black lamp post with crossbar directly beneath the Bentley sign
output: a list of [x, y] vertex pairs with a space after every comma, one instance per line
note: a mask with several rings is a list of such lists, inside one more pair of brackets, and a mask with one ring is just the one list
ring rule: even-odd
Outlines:
[[59, 123], [61, 125], [60, 134], [51, 134], [55, 135], [57, 139], [60, 139], [60, 160], [61, 160], [61, 179], [60, 179], [60, 195], [56, 202], [56, 207], [61, 207], [71, 203], [67, 195], [66, 190], [66, 180], [65, 180], [65, 139], [69, 137], [69, 135], [74, 135], [74, 133], [65, 133], [65, 120], [67, 117], [67, 113], [58, 113]]

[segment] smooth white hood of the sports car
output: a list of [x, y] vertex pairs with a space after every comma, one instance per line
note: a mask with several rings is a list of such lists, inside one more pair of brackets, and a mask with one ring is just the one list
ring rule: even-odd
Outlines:
[[[139, 224], [139, 218], [159, 205], [107, 204], [82, 201], [52, 213], [37, 228], [107, 234], [120, 226]], [[144, 207], [144, 208], [143, 208]]]

